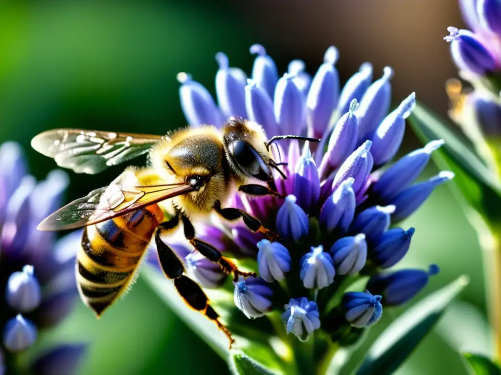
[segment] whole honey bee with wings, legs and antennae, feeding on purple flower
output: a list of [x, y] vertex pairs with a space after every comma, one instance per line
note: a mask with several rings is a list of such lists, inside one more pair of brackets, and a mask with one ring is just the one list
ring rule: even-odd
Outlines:
[[[164, 136], [81, 129], [43, 132], [33, 138], [33, 148], [77, 173], [99, 173], [147, 152], [149, 166], [128, 167], [108, 186], [51, 214], [38, 229], [84, 227], [77, 284], [82, 300], [97, 317], [127, 289], [153, 237], [166, 277], [189, 306], [217, 324], [231, 345], [231, 333], [200, 286], [184, 274], [183, 263], [161, 234], [182, 222], [191, 245], [225, 273], [233, 273], [235, 280], [255, 275], [240, 271], [218, 249], [197, 238], [192, 220], [215, 211], [225, 220], [241, 218], [249, 229], [272, 236], [256, 217], [222, 204], [235, 188], [250, 195], [280, 196], [272, 170], [285, 177], [279, 168], [283, 163], [273, 159], [270, 145], [281, 138], [318, 141], [296, 135], [268, 140], [259, 124], [240, 117], [230, 117], [221, 129], [205, 125]], [[267, 185], [248, 183], [252, 179]], [[170, 216], [167, 220], [164, 211]]]

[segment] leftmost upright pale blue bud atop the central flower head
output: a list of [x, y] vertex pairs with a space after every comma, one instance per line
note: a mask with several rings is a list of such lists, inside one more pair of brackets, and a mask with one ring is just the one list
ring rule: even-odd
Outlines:
[[209, 91], [200, 83], [191, 80], [191, 75], [177, 74], [179, 99], [184, 116], [190, 126], [209, 124], [221, 126], [223, 117]]

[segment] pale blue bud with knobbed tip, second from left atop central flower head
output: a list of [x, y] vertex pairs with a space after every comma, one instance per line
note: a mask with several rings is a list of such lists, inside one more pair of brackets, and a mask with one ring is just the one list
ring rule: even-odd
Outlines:
[[228, 57], [223, 52], [216, 53], [219, 70], [216, 73], [216, 95], [219, 108], [227, 118], [247, 117], [245, 111], [245, 85], [247, 76], [242, 69], [228, 66]]

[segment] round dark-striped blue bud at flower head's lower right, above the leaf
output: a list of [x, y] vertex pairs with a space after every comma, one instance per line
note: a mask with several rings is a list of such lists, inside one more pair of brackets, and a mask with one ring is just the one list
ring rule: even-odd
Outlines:
[[368, 290], [345, 293], [343, 305], [346, 309], [346, 320], [357, 328], [377, 323], [383, 314], [383, 306], [380, 301], [380, 295], [372, 295]]

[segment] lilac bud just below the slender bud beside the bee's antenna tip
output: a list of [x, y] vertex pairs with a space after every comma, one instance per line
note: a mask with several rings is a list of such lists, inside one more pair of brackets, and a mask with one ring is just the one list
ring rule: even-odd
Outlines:
[[372, 142], [366, 140], [341, 164], [332, 182], [332, 189], [334, 191], [336, 191], [341, 182], [349, 177], [355, 179], [352, 186], [355, 194], [360, 190], [372, 170], [373, 159], [369, 152], [371, 145]]

